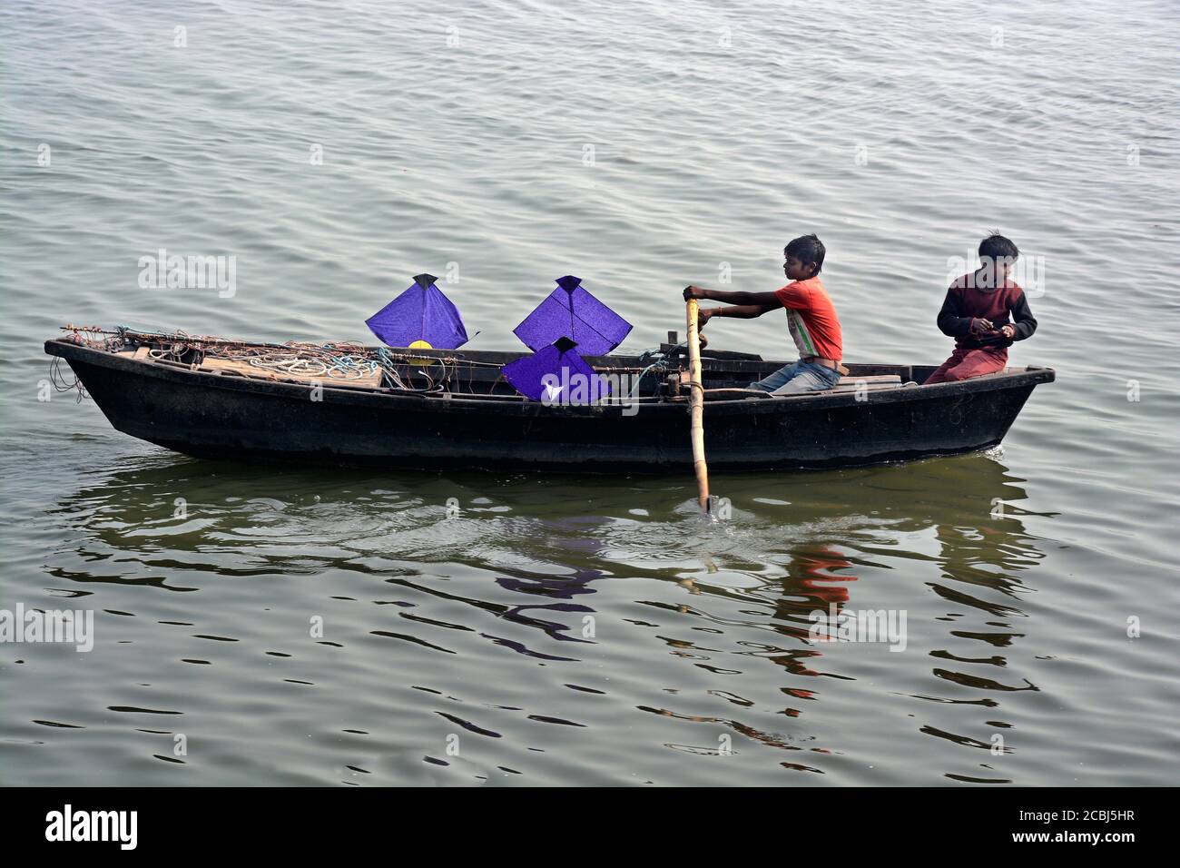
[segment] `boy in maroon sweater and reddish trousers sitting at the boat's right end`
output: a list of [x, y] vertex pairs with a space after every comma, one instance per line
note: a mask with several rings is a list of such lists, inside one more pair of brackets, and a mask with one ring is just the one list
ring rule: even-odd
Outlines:
[[938, 328], [955, 338], [955, 352], [923, 385], [1003, 371], [1008, 347], [1036, 331], [1024, 291], [1009, 279], [1021, 252], [995, 233], [979, 242], [979, 268], [951, 283]]

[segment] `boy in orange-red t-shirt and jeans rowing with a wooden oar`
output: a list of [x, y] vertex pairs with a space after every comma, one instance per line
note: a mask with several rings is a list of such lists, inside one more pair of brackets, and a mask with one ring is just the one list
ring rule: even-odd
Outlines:
[[763, 380], [750, 383], [750, 389], [774, 394], [796, 394], [832, 389], [840, 381], [840, 359], [844, 357], [840, 320], [819, 280], [824, 253], [824, 242], [815, 235], [794, 239], [784, 248], [786, 262], [782, 266], [792, 282], [773, 293], [725, 292], [702, 289], [699, 286], [684, 289], [686, 301], [712, 299], [733, 305], [702, 308], [699, 314], [701, 328], [714, 316], [748, 320], [780, 307], [787, 309], [787, 324], [799, 348], [799, 361], [775, 371]]

